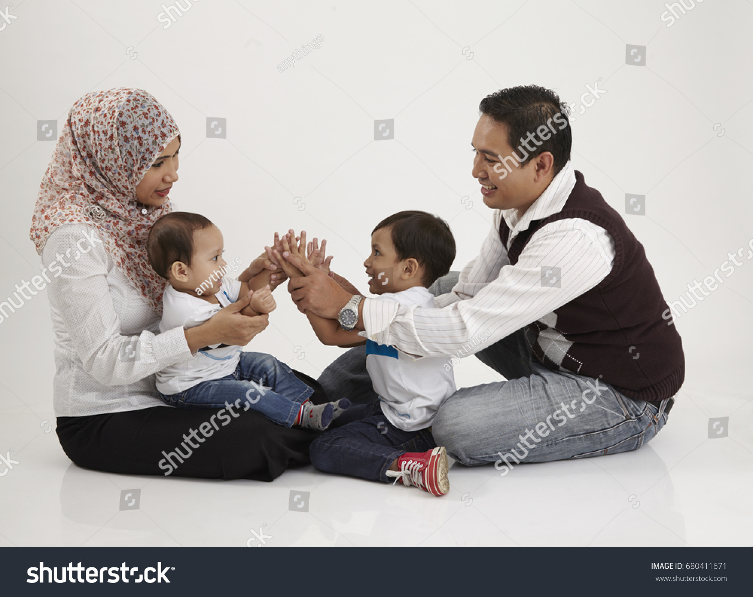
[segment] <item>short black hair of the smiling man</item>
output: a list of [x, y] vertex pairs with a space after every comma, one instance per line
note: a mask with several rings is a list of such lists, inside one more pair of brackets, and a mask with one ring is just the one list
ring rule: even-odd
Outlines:
[[[572, 131], [568, 119], [569, 109], [552, 90], [538, 85], [508, 87], [483, 98], [478, 109], [482, 114], [507, 125], [508, 143], [512, 148], [518, 146], [521, 157], [523, 153], [526, 154], [525, 160], [518, 160], [521, 166], [543, 152], [551, 152], [554, 158], [553, 176], [556, 176], [570, 159]], [[558, 115], [559, 118], [556, 118]], [[562, 126], [553, 127], [551, 121]], [[540, 127], [548, 130], [548, 133], [544, 133], [550, 135], [548, 139], [537, 132]], [[530, 155], [526, 145], [522, 144], [523, 139], [530, 139], [529, 133], [536, 138], [533, 143], [535, 149]], [[531, 140], [528, 142], [530, 144]], [[517, 158], [517, 154], [515, 157]]]

